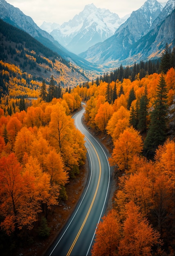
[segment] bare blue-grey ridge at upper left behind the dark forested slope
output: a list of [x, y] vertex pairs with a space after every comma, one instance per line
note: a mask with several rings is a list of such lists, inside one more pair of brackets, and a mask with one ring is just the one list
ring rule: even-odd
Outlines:
[[79, 65], [79, 67], [82, 67], [83, 69], [99, 71], [99, 68], [96, 65], [88, 63], [88, 61], [85, 61], [83, 58], [69, 52], [49, 33], [40, 29], [32, 18], [26, 16], [20, 9], [7, 3], [5, 0], [0, 0], [0, 18], [14, 27], [24, 30], [67, 61], [71, 61], [74, 64], [76, 63], [76, 65]]

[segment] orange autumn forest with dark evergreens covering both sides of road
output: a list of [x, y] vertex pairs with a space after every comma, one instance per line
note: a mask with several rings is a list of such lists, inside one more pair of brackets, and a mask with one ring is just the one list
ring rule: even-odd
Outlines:
[[19, 240], [26, 243], [34, 230], [42, 238], [49, 236], [47, 216], [60, 200], [67, 200], [66, 184], [79, 175], [85, 163], [84, 136], [72, 119], [83, 101], [85, 125], [96, 136], [103, 135], [110, 141], [109, 163], [117, 184], [112, 208], [96, 229], [92, 255], [173, 256], [174, 49], [166, 45], [157, 63], [121, 66], [103, 76], [97, 73], [90, 81], [87, 73], [60, 56], [49, 56], [50, 52], [44, 56], [40, 49], [31, 50], [22, 43], [24, 38], [11, 44], [11, 38], [3, 33], [3, 255], [13, 255]]

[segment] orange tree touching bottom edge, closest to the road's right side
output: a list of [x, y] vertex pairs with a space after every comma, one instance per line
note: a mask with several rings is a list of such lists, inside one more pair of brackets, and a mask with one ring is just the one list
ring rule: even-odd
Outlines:
[[117, 213], [111, 210], [97, 225], [95, 243], [91, 252], [92, 256], [115, 255], [116, 248], [119, 245], [119, 229]]

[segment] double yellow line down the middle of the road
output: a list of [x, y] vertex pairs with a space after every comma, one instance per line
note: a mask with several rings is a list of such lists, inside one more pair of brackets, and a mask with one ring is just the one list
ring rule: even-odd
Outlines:
[[[86, 137], [86, 138], [87, 138], [87, 137]], [[88, 139], [88, 138], [87, 138], [87, 139]], [[94, 145], [91, 143], [91, 141], [90, 141], [89, 139], [88, 139], [88, 141], [90, 142], [90, 144], [91, 144], [92, 147], [94, 148]], [[66, 256], [70, 256], [70, 254], [71, 254], [71, 252], [72, 252], [72, 250], [73, 250], [73, 248], [74, 248], [74, 245], [76, 244], [76, 241], [77, 241], [77, 239], [79, 238], [79, 235], [80, 235], [80, 233], [81, 233], [81, 231], [82, 231], [82, 229], [83, 229], [83, 227], [84, 227], [84, 225], [85, 225], [85, 222], [86, 222], [86, 220], [87, 220], [87, 218], [88, 218], [88, 216], [89, 216], [89, 214], [90, 214], [90, 211], [91, 211], [91, 209], [92, 209], [92, 205], [94, 204], [94, 200], [95, 200], [95, 198], [96, 198], [96, 193], [97, 193], [97, 191], [98, 191], [98, 189], [99, 189], [100, 178], [101, 178], [101, 163], [100, 163], [99, 155], [98, 155], [98, 153], [96, 152], [96, 149], [95, 149], [95, 148], [94, 148], [94, 151], [95, 151], [96, 156], [97, 156], [98, 161], [99, 161], [99, 168], [100, 168], [99, 180], [98, 180], [98, 183], [97, 183], [97, 186], [96, 186], [96, 191], [95, 191], [94, 197], [93, 197], [93, 199], [92, 199], [92, 202], [91, 202], [90, 208], [89, 208], [89, 210], [88, 210], [88, 213], [86, 214], [86, 217], [85, 217], [85, 219], [84, 219], [84, 221], [83, 221], [83, 224], [81, 225], [81, 228], [79, 229], [79, 232], [78, 232], [78, 234], [76, 235], [76, 238], [74, 239], [74, 242], [72, 243], [72, 245], [71, 245], [69, 251], [67, 252], [67, 255], [66, 255]]]

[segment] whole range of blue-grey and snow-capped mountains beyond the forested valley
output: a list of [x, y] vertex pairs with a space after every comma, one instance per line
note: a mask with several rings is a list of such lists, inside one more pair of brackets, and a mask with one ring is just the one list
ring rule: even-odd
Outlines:
[[120, 19], [116, 13], [88, 4], [61, 26], [44, 22], [41, 28], [49, 34], [20, 9], [0, 0], [2, 20], [26, 31], [66, 61], [94, 72], [159, 58], [166, 43], [175, 44], [174, 10], [174, 0], [168, 0], [164, 8], [157, 0], [147, 0]]

